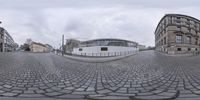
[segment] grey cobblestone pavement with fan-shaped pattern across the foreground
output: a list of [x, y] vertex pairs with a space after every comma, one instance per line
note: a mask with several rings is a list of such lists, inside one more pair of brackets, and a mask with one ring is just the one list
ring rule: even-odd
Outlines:
[[0, 53], [0, 69], [2, 98], [200, 99], [200, 56], [147, 51], [87, 63], [49, 53]]

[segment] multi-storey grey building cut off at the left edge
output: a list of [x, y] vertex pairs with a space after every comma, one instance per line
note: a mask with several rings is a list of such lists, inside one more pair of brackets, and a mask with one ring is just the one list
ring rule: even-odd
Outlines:
[[0, 52], [12, 52], [16, 49], [16, 43], [10, 34], [0, 27]]

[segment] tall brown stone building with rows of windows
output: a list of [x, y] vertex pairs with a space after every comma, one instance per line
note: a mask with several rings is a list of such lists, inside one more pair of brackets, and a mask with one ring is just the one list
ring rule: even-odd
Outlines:
[[156, 50], [167, 54], [190, 54], [200, 50], [200, 20], [166, 14], [155, 30]]

